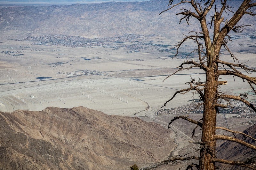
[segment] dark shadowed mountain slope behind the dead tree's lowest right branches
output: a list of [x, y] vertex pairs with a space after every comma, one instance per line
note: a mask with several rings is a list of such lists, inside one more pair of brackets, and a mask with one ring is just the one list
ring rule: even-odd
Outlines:
[[[248, 129], [245, 129], [243, 132], [247, 135], [250, 135], [253, 138], [256, 138], [256, 124], [254, 124], [253, 126], [251, 126]], [[240, 134], [236, 135], [236, 137], [238, 139], [244, 140], [245, 142], [247, 142], [249, 144], [252, 144], [254, 146], [256, 145], [256, 141], [249, 137], [244, 138]], [[255, 158], [255, 156], [256, 156], [255, 150], [247, 148], [246, 146], [237, 144], [235, 142], [227, 141], [227, 142], [223, 143], [222, 145], [220, 145], [220, 147], [218, 147], [216, 149], [216, 151], [217, 151], [217, 158], [221, 158], [221, 159], [236, 160], [236, 161], [245, 161], [250, 158], [254, 158], [254, 160], [256, 159]], [[230, 166], [230, 165], [224, 165], [224, 164], [221, 164], [220, 168], [221, 169], [230, 169], [230, 170], [246, 169], [244, 167]]]

